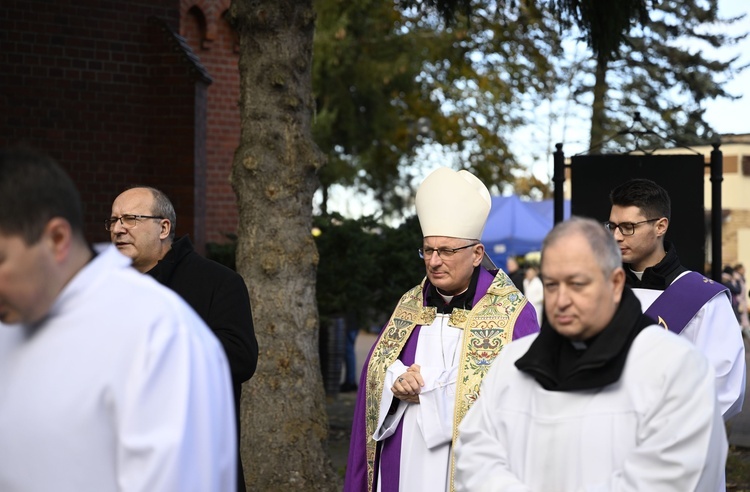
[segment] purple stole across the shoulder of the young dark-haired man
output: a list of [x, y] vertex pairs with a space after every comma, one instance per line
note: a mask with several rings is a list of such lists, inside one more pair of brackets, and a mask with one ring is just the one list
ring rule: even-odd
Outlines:
[[708, 301], [726, 290], [698, 272], [688, 272], [672, 282], [643, 314], [679, 335]]

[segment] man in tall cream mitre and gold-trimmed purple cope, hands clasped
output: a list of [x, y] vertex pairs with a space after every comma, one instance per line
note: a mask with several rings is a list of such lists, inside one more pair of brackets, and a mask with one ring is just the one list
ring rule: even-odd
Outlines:
[[346, 491], [453, 490], [456, 427], [511, 340], [539, 330], [534, 308], [485, 258], [491, 199], [441, 168], [416, 196], [427, 278], [399, 301], [359, 385]]

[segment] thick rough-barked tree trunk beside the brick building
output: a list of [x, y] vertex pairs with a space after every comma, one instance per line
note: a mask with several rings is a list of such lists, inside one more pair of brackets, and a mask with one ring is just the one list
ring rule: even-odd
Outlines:
[[312, 0], [234, 0], [230, 18], [240, 39], [237, 267], [260, 346], [242, 402], [246, 482], [252, 491], [338, 490], [327, 456], [311, 235], [323, 163], [310, 128]]

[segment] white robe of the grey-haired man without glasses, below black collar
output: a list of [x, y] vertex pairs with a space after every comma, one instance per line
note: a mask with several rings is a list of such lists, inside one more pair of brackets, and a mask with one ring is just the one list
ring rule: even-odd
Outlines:
[[459, 427], [456, 490], [716, 492], [727, 440], [705, 357], [656, 325], [620, 379], [547, 391], [515, 366], [536, 338], [503, 349]]

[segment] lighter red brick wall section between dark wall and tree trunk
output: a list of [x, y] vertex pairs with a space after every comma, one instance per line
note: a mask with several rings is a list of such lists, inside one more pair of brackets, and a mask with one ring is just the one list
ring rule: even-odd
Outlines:
[[184, 0], [180, 33], [211, 74], [208, 88], [206, 140], [206, 240], [227, 242], [237, 231], [236, 196], [229, 184], [234, 151], [239, 144], [240, 117], [237, 41], [224, 20], [229, 1]]

